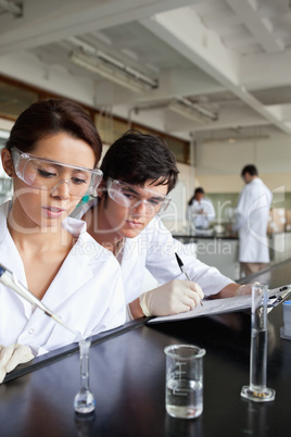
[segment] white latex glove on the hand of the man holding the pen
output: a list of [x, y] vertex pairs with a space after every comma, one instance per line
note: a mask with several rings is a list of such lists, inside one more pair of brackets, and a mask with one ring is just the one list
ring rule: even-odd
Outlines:
[[170, 315], [192, 310], [204, 294], [197, 283], [174, 279], [139, 297], [143, 314]]

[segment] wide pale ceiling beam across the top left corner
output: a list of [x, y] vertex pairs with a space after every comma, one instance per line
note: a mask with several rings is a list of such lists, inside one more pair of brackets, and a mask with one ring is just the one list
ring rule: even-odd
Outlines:
[[26, 0], [23, 16], [0, 21], [0, 55], [97, 32], [198, 0]]

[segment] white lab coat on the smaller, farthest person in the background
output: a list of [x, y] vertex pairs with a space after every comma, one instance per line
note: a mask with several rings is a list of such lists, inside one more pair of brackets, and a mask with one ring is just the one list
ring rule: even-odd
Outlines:
[[[203, 211], [203, 213], [202, 213]], [[210, 222], [215, 218], [215, 210], [210, 199], [193, 200], [187, 208], [187, 220], [197, 229], [207, 229]]]

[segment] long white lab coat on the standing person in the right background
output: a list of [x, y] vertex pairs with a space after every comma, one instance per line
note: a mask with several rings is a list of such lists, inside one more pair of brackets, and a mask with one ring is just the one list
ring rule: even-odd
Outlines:
[[262, 179], [255, 177], [243, 187], [236, 209], [233, 230], [239, 232], [239, 261], [268, 263], [267, 226], [271, 192]]

